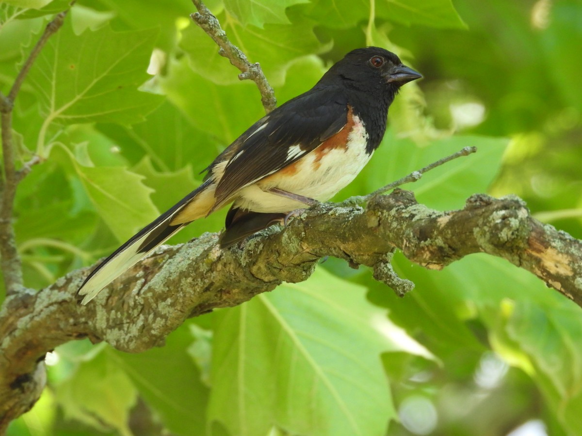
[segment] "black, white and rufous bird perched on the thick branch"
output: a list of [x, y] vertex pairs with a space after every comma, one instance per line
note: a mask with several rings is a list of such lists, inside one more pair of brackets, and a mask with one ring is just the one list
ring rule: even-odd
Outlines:
[[400, 87], [421, 77], [384, 48], [347, 53], [313, 88], [244, 131], [204, 170], [200, 186], [95, 267], [79, 288], [81, 304], [181, 228], [229, 203], [223, 249], [328, 201], [378, 148]]

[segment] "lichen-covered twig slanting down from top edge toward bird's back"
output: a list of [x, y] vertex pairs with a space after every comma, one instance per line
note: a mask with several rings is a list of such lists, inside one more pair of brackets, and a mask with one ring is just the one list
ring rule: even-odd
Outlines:
[[257, 63], [250, 63], [247, 56], [226, 36], [226, 32], [222, 30], [217, 17], [212, 15], [212, 12], [204, 5], [201, 0], [192, 0], [198, 12], [190, 14], [194, 23], [198, 24], [220, 47], [218, 53], [230, 60], [230, 63], [237, 67], [241, 73], [240, 80], [250, 79], [257, 84], [258, 90], [261, 92], [262, 106], [265, 112], [269, 113], [275, 109], [277, 101], [275, 99], [275, 92], [271, 85], [269, 85], [265, 74], [261, 70], [261, 66]]

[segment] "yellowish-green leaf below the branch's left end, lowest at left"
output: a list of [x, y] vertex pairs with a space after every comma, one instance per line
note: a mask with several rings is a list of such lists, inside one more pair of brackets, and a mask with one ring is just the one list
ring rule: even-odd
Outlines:
[[81, 363], [72, 377], [56, 387], [56, 401], [66, 418], [128, 436], [132, 434], [127, 426], [129, 410], [136, 394], [132, 381], [108, 352]]

